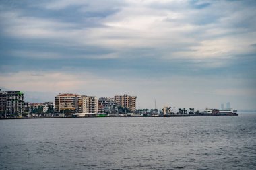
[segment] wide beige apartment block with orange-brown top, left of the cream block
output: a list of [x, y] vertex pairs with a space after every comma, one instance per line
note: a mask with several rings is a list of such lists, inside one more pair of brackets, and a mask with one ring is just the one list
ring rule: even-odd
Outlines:
[[55, 97], [55, 110], [63, 112], [70, 110], [71, 112], [79, 112], [81, 110], [81, 96], [76, 94], [59, 94]]

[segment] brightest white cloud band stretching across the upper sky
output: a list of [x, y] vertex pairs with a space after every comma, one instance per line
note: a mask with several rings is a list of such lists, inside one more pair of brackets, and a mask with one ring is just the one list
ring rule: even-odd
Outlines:
[[[243, 15], [241, 11], [234, 13], [232, 9], [220, 11], [220, 3], [214, 3], [209, 9], [191, 9], [188, 1], [125, 1], [122, 5], [117, 1], [102, 4], [100, 1], [52, 1], [44, 3], [48, 9], [65, 9], [71, 5], [81, 5], [87, 9], [110, 10], [109, 4], [117, 5], [119, 11], [101, 18], [105, 27], [82, 27], [81, 23], [61, 22], [57, 19], [42, 19], [25, 16], [22, 12], [1, 12], [1, 20], [5, 34], [18, 38], [48, 40], [49, 44], [60, 46], [98, 46], [115, 50], [115, 55], [98, 58], [117, 58], [122, 56], [123, 49], [159, 48], [160, 58], [228, 58], [234, 54], [244, 54], [253, 49], [255, 33], [243, 33], [241, 28], [228, 28], [226, 22], [234, 22]], [[152, 5], [168, 5], [174, 7], [185, 4], [187, 10], [180, 11], [158, 8]], [[228, 3], [221, 3], [226, 6]], [[235, 3], [232, 3], [232, 5]], [[193, 24], [193, 19], [200, 19], [214, 10], [220, 12], [217, 21], [210, 24]], [[230, 17], [230, 14], [233, 17]], [[81, 14], [82, 15], [82, 14]], [[210, 18], [211, 19], [211, 18]], [[47, 55], [47, 54], [46, 54]], [[59, 54], [57, 54], [59, 55]], [[159, 55], [159, 54], [158, 54]], [[30, 55], [28, 55], [30, 56]], [[44, 53], [37, 54], [44, 56]], [[60, 55], [61, 56], [61, 55]], [[58, 56], [59, 57], [59, 56]], [[80, 56], [79, 56], [80, 57]], [[77, 57], [77, 58], [79, 58]], [[88, 56], [90, 58], [90, 56]], [[97, 58], [96, 56], [93, 56]]]

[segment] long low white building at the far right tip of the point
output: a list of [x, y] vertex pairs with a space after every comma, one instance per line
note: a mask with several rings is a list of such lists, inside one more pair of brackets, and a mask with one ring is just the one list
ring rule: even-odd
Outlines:
[[206, 116], [238, 116], [237, 110], [232, 109], [207, 109], [201, 112], [200, 114]]

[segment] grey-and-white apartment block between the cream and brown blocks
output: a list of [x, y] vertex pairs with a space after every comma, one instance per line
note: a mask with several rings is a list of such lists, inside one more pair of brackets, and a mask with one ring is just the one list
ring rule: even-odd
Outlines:
[[117, 113], [118, 105], [114, 98], [101, 97], [98, 99], [98, 112], [107, 114]]

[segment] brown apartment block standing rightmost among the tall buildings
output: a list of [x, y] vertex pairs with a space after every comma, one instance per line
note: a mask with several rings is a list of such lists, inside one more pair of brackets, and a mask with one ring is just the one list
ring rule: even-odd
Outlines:
[[115, 101], [117, 101], [120, 106], [128, 108], [132, 112], [136, 110], [136, 99], [137, 96], [115, 95]]

